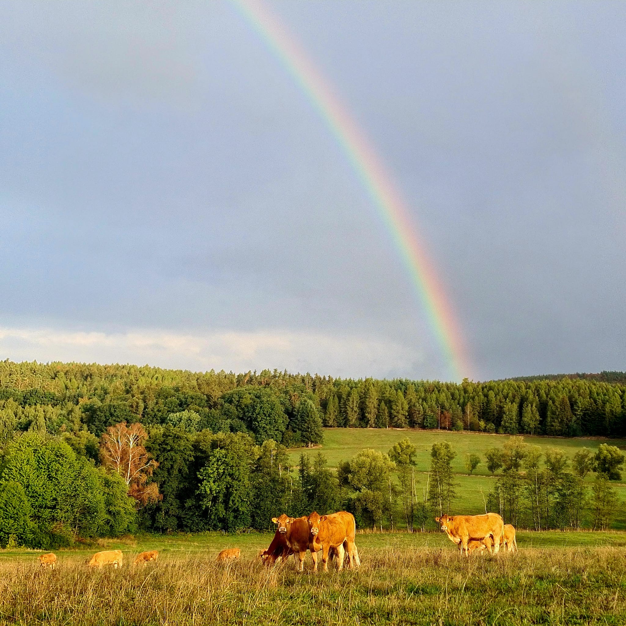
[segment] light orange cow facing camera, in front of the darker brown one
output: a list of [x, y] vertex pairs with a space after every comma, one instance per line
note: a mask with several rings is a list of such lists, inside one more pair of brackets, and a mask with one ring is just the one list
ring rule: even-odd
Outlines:
[[309, 549], [313, 556], [314, 572], [317, 572], [317, 552], [320, 550], [322, 550], [324, 572], [328, 571], [328, 556], [331, 548], [337, 550], [338, 570], [341, 570], [344, 565], [344, 551], [348, 555], [349, 567], [361, 565], [359, 552], [354, 543], [356, 522], [352, 513], [339, 511], [331, 515], [319, 515], [317, 511], [313, 511], [307, 518], [307, 523], [309, 524]]

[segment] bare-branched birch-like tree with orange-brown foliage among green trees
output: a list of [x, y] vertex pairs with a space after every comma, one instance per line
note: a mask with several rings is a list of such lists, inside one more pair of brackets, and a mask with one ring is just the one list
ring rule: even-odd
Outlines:
[[109, 426], [100, 439], [100, 460], [109, 469], [116, 471], [128, 485], [128, 495], [141, 505], [161, 500], [158, 485], [148, 482], [148, 477], [158, 467], [149, 458], [143, 443], [148, 433], [140, 423], [126, 426], [126, 422]]

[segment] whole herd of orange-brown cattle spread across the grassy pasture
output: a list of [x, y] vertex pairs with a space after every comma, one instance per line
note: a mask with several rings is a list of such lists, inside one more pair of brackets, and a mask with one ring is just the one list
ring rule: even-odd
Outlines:
[[[318, 555], [322, 553], [324, 572], [328, 571], [329, 558], [337, 558], [337, 569], [344, 567], [344, 560], [350, 568], [359, 567], [359, 551], [354, 538], [356, 536], [356, 522], [352, 513], [339, 511], [331, 515], [319, 515], [313, 511], [308, 517], [293, 518], [283, 513], [280, 517], [272, 518], [277, 529], [267, 550], [259, 552], [265, 565], [274, 565], [280, 560], [285, 561], [289, 555], [294, 555], [297, 568], [304, 570], [304, 558], [307, 550], [313, 560], [313, 570], [317, 572]], [[442, 515], [435, 518], [448, 538], [456, 543], [461, 554], [488, 550], [490, 554], [497, 554], [500, 546], [507, 552], [517, 550], [515, 528], [504, 523], [497, 513], [486, 515]], [[218, 562], [239, 560], [240, 548], [227, 548], [217, 556]], [[56, 555], [43, 554], [39, 558], [42, 567], [54, 569]], [[157, 550], [141, 552], [136, 556], [133, 564], [140, 565], [158, 560]], [[87, 562], [89, 567], [102, 568], [111, 565], [113, 568], [122, 567], [123, 554], [121, 550], [105, 550], [96, 552]]]

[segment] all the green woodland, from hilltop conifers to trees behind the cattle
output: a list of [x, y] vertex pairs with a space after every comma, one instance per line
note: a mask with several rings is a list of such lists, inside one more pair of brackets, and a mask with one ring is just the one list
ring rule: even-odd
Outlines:
[[322, 443], [323, 426], [510, 434], [508, 447], [485, 459], [491, 473], [500, 471], [491, 510], [536, 530], [607, 528], [619, 449], [605, 444], [568, 459], [515, 436], [617, 437], [625, 425], [626, 387], [593, 376], [454, 384], [7, 360], [0, 362], [0, 544], [53, 548], [136, 530], [270, 530], [277, 511], [340, 507], [360, 525], [419, 530], [433, 511], [451, 510], [449, 444], [433, 445], [428, 491], [418, 496], [413, 446], [401, 431], [389, 453], [364, 449], [336, 472], [321, 453], [290, 466], [287, 448]]

